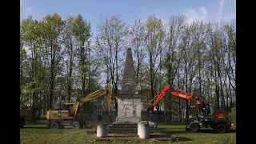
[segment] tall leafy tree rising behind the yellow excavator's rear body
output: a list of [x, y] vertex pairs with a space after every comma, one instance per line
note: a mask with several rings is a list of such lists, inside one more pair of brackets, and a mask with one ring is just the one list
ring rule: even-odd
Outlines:
[[62, 18], [54, 13], [52, 15], [47, 14], [42, 18], [42, 38], [43, 46], [46, 50], [46, 61], [50, 68], [50, 94], [49, 94], [49, 108], [53, 106], [53, 97], [55, 90], [55, 80], [58, 74], [60, 74], [61, 68], [59, 67], [62, 60], [62, 31], [64, 22]]

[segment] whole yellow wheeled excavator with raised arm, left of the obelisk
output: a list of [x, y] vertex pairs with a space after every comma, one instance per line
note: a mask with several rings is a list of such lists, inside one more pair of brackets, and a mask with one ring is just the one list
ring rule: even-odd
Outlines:
[[50, 129], [60, 129], [64, 128], [64, 126], [73, 126], [73, 129], [82, 128], [86, 125], [86, 118], [79, 114], [79, 104], [88, 102], [105, 94], [107, 109], [110, 113], [112, 86], [108, 85], [105, 90], [96, 90], [93, 93], [86, 95], [86, 97], [79, 99], [78, 102], [67, 103], [64, 110], [51, 109], [47, 111], [46, 127]]

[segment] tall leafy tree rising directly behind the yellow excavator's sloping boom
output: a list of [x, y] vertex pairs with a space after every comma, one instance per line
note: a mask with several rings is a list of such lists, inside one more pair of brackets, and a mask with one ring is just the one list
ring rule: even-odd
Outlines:
[[[91, 25], [89, 21], [82, 18], [81, 14], [78, 14], [76, 18], [74, 18], [74, 22], [72, 22], [72, 33], [74, 34], [75, 46], [76, 46], [76, 54], [75, 58], [77, 59], [77, 70], [78, 75], [77, 80], [80, 83], [81, 93], [80, 98], [86, 97], [87, 94], [90, 94], [92, 91], [92, 86], [90, 86], [90, 81], [92, 81], [91, 77], [91, 69], [90, 69], [90, 38], [91, 38]], [[78, 85], [77, 85], [78, 86]], [[89, 106], [89, 105], [88, 105]], [[85, 103], [83, 103], [83, 109], [85, 111], [88, 107]]]

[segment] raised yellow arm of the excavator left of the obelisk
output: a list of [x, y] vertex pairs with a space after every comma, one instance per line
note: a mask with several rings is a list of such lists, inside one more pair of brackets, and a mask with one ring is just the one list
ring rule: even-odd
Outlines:
[[107, 109], [108, 109], [108, 112], [110, 113], [111, 98], [112, 98], [112, 86], [110, 86], [110, 85], [107, 86], [106, 90], [96, 90], [93, 93], [86, 95], [85, 98], [79, 99], [78, 102], [74, 103], [70, 112], [74, 113], [74, 116], [76, 116], [78, 113], [79, 102], [88, 102], [88, 101], [98, 98], [104, 94], [106, 94]]

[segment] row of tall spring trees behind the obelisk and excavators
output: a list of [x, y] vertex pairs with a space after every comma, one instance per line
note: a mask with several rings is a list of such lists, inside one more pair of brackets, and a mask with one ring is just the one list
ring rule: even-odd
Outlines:
[[[133, 25], [114, 15], [101, 18], [97, 27], [80, 14], [22, 19], [21, 108], [30, 108], [35, 122], [37, 115], [50, 108], [62, 107], [108, 84], [118, 94], [127, 48], [132, 49], [138, 92], [145, 102], [170, 84], [205, 98], [217, 110], [233, 108], [235, 113], [235, 22], [187, 23], [182, 14], [170, 15], [167, 22], [149, 15], [146, 22], [135, 19]], [[182, 117], [190, 104], [166, 95], [157, 110], [162, 108], [170, 118]], [[85, 106], [90, 112], [94, 101]]]

